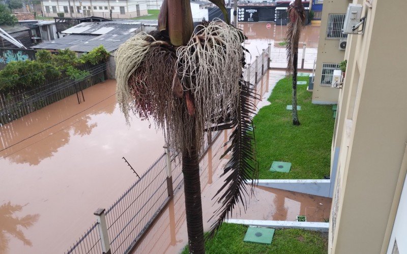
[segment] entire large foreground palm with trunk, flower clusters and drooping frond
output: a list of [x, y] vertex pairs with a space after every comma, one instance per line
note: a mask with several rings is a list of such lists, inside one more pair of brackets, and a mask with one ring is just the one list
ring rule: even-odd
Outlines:
[[257, 178], [250, 129], [255, 94], [242, 76], [245, 36], [228, 24], [224, 1], [211, 2], [227, 23], [202, 22], [194, 33], [189, 0], [164, 0], [159, 30], [139, 33], [115, 52], [117, 99], [126, 118], [130, 112], [152, 118], [166, 143], [182, 154], [191, 253], [205, 252], [198, 160], [204, 133], [234, 129], [210, 237], [250, 192], [246, 179]]

